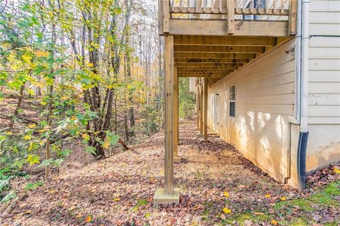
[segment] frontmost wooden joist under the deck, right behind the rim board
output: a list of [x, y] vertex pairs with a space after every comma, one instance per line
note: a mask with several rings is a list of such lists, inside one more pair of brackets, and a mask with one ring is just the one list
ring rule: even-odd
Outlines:
[[272, 37], [190, 36], [174, 37], [175, 45], [268, 46], [276, 45]]

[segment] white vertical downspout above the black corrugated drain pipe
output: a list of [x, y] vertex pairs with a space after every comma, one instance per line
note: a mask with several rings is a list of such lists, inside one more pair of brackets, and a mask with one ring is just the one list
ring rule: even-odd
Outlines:
[[302, 0], [300, 132], [308, 131], [309, 42], [310, 42], [310, 0]]

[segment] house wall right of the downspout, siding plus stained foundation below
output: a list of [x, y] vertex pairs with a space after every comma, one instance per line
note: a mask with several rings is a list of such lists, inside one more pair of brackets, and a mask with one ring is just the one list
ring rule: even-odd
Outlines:
[[340, 1], [310, 1], [307, 171], [340, 161]]

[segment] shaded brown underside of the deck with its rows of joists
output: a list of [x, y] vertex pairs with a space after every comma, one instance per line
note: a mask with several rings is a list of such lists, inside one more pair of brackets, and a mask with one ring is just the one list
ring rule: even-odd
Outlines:
[[174, 35], [178, 77], [205, 77], [208, 86], [249, 64], [288, 38]]

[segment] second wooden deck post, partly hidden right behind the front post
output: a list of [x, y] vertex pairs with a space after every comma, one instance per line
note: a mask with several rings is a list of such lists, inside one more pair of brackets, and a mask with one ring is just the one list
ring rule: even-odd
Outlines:
[[179, 156], [179, 77], [174, 67], [174, 157]]

